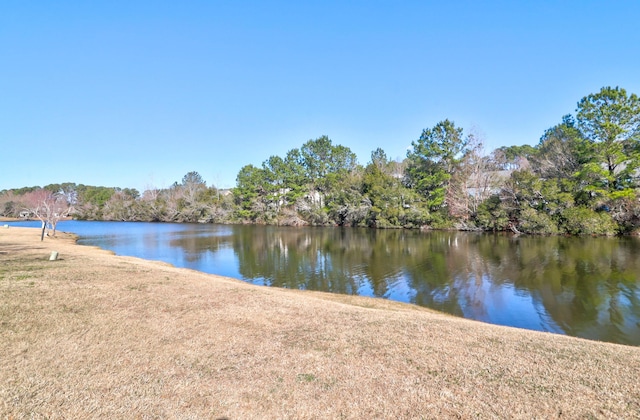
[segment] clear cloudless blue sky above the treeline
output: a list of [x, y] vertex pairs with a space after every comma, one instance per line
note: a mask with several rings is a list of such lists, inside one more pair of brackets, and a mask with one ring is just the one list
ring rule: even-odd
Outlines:
[[0, 190], [166, 187], [328, 135], [361, 164], [448, 118], [536, 144], [640, 94], [638, 1], [5, 1]]

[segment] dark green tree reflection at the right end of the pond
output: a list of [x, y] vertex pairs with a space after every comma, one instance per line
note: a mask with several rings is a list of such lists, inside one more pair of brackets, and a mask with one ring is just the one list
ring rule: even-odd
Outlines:
[[530, 293], [567, 334], [640, 344], [633, 238], [505, 238], [479, 250], [500, 260], [489, 271], [493, 283]]

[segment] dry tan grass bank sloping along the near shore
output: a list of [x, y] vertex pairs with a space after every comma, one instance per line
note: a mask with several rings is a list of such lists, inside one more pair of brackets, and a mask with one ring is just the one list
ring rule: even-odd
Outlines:
[[257, 287], [58, 235], [0, 228], [1, 418], [640, 417], [637, 347]]

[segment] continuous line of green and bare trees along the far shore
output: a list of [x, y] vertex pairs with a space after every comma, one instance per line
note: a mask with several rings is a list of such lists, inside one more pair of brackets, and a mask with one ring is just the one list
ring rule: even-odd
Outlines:
[[[605, 87], [536, 146], [486, 154], [477, 136], [444, 120], [423, 130], [402, 160], [378, 148], [362, 166], [322, 136], [243, 167], [231, 190], [207, 186], [197, 172], [142, 193], [72, 183], [43, 189], [90, 220], [613, 235], [640, 230], [639, 166], [640, 100]], [[3, 191], [1, 214], [24, 217], [38, 189]]]

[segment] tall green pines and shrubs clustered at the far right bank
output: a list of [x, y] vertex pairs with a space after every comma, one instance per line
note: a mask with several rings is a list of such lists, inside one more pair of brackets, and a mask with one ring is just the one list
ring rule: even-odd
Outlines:
[[[493, 205], [528, 233], [633, 232], [638, 215], [640, 101], [602, 88], [578, 102], [531, 150], [504, 150], [515, 166]], [[517, 156], [517, 155], [520, 156]], [[517, 156], [517, 157], [516, 157]], [[497, 206], [497, 207], [496, 207]]]

